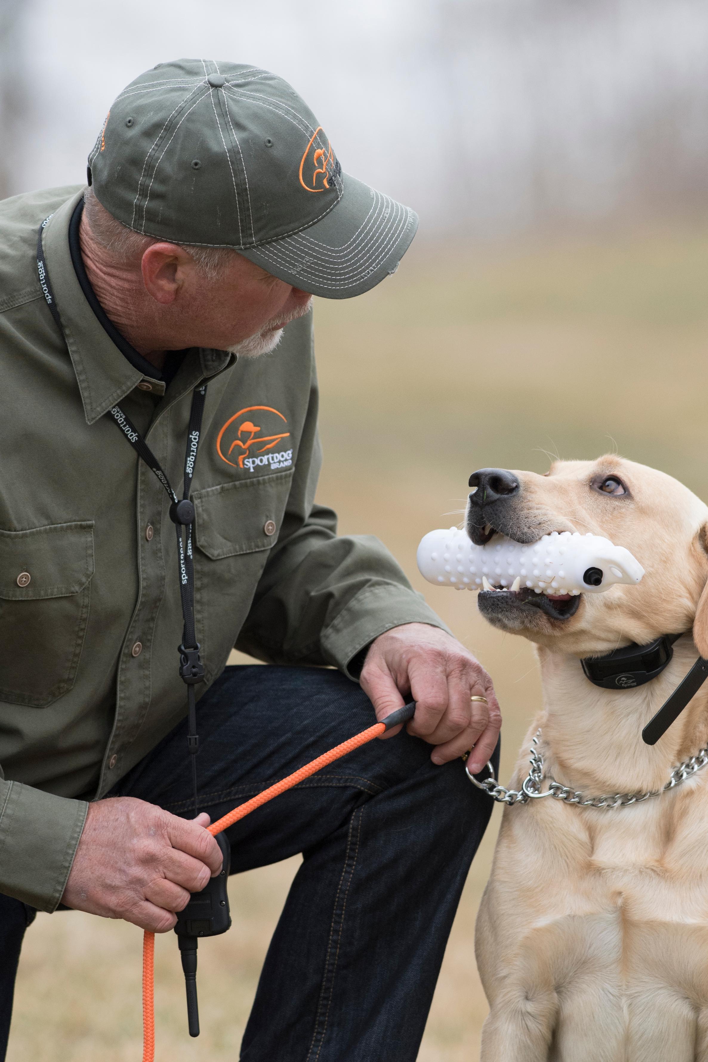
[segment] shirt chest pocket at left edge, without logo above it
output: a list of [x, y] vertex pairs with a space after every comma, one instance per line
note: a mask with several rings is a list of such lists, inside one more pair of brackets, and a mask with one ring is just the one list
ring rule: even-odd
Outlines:
[[45, 708], [73, 686], [93, 576], [93, 521], [0, 531], [0, 698]]

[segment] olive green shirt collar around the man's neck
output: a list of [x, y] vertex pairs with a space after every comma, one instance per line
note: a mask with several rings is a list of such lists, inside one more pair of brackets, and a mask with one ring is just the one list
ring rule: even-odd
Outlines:
[[[115, 336], [109, 333], [82, 290], [71, 260], [69, 225], [83, 194], [82, 190], [72, 195], [52, 215], [45, 227], [42, 247], [86, 421], [93, 424], [140, 384], [143, 384], [144, 390], [150, 387], [154, 394], [163, 394], [165, 381], [160, 379], [159, 372], [134, 350], [113, 325]], [[145, 371], [139, 367], [134, 358], [128, 358], [115, 341], [116, 337], [134, 353], [135, 359], [143, 362]], [[228, 369], [235, 360], [234, 355], [226, 350], [201, 347], [198, 362], [194, 352], [187, 354], [187, 364], [179, 370], [179, 376], [182, 378], [186, 374], [189, 387], [193, 388], [202, 378], [215, 376]], [[187, 383], [187, 378], [184, 383]]]

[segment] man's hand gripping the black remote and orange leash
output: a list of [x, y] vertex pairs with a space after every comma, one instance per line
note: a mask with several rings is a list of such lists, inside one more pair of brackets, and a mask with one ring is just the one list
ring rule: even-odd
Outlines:
[[221, 871], [208, 825], [208, 815], [189, 822], [132, 796], [89, 804], [62, 903], [167, 932], [190, 892]]

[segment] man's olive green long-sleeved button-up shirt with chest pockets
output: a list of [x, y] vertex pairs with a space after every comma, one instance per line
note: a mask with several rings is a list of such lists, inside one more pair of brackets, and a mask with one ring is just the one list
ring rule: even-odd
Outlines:
[[[143, 376], [91, 311], [68, 225], [83, 189], [0, 203], [0, 892], [58, 904], [87, 803], [186, 713], [169, 500], [106, 412], [131, 417], [178, 494], [193, 389], [203, 693], [237, 646], [347, 671], [399, 623], [443, 623], [373, 537], [338, 537], [320, 468], [311, 315], [271, 355], [190, 350]], [[37, 233], [62, 320], [39, 285]], [[157, 375], [157, 374], [156, 374]], [[187, 757], [187, 750], [185, 750]]]

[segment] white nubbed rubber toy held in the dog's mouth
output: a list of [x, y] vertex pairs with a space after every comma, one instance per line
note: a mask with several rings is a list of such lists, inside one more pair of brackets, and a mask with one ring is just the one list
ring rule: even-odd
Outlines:
[[553, 531], [522, 545], [496, 534], [476, 546], [459, 528], [430, 531], [418, 546], [428, 582], [457, 590], [520, 590], [559, 597], [602, 594], [616, 583], [635, 586], [644, 569], [623, 546], [579, 531]]

